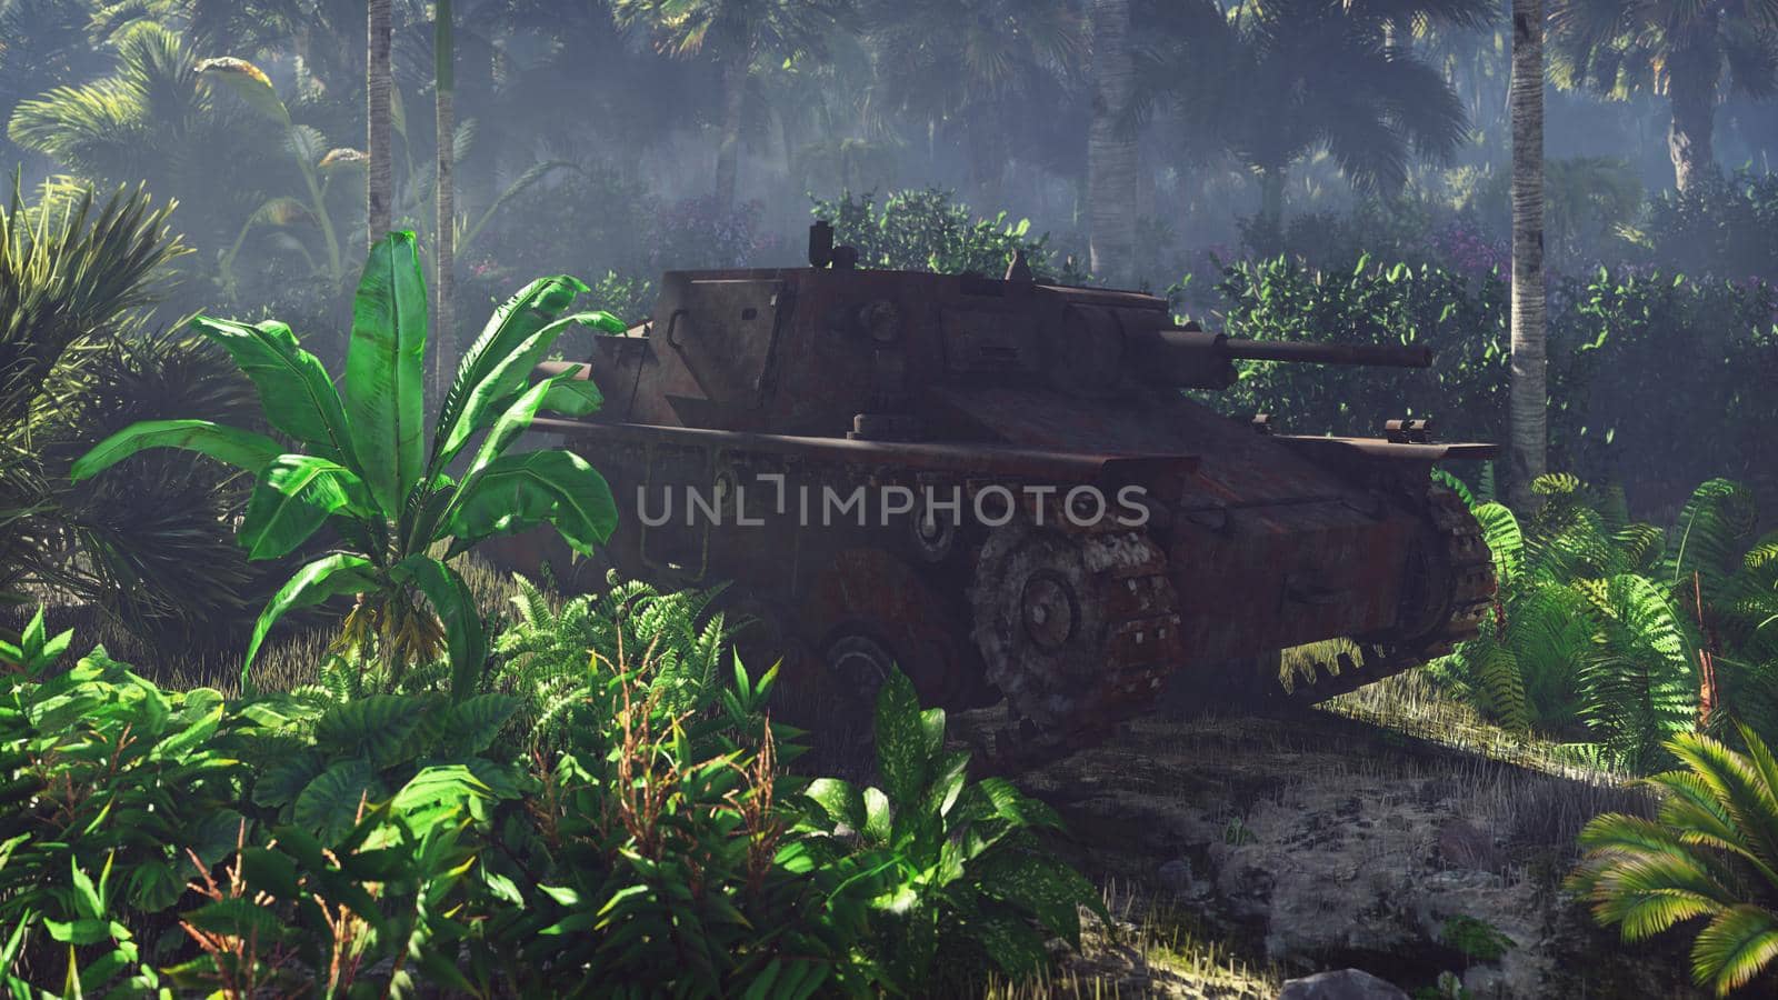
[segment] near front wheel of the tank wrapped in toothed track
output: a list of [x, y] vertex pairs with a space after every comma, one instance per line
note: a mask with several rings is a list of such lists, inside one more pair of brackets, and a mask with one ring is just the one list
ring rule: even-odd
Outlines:
[[1182, 658], [1166, 553], [1143, 532], [994, 528], [969, 600], [987, 680], [1006, 698], [994, 754], [1008, 765], [1102, 738]]

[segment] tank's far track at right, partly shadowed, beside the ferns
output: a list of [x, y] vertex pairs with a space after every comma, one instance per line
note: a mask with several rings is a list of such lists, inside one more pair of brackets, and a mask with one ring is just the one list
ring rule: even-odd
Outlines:
[[1357, 657], [1310, 664], [1289, 698], [1319, 703], [1444, 657], [1474, 639], [1494, 609], [1494, 553], [1481, 525], [1446, 486], [1426, 495], [1426, 532], [1403, 580], [1401, 625], [1389, 635], [1353, 639]]

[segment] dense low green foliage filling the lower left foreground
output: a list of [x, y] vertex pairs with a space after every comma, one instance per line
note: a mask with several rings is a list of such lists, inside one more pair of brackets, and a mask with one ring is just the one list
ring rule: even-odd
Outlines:
[[[1077, 943], [1077, 906], [1104, 916], [1037, 840], [1054, 813], [969, 781], [900, 673], [877, 706], [882, 788], [784, 772], [775, 671], [731, 658], [708, 598], [613, 584], [557, 610], [526, 589], [489, 676], [512, 690], [461, 701], [443, 669], [363, 696], [336, 662], [233, 703], [103, 653], [59, 673], [69, 637], [39, 616], [0, 646], [0, 975], [89, 995], [939, 995], [1038, 972], [1045, 938]], [[548, 737], [525, 733], [539, 705]]]

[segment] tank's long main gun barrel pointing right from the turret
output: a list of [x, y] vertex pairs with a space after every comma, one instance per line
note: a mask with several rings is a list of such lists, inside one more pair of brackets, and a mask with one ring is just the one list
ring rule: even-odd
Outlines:
[[1392, 343], [1307, 343], [1300, 340], [1239, 340], [1198, 329], [1197, 324], [1168, 326], [1136, 338], [1136, 372], [1143, 381], [1193, 390], [1223, 390], [1234, 384], [1234, 363], [1296, 361], [1309, 365], [1362, 365], [1380, 368], [1430, 368], [1430, 347]]

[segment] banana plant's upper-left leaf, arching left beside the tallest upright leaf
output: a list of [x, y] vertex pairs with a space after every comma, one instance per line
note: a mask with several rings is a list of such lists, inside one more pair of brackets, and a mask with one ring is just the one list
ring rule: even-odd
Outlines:
[[[352, 452], [340, 393], [327, 368], [297, 347], [297, 338], [281, 322], [247, 326], [233, 320], [197, 317], [192, 329], [219, 343], [260, 390], [265, 422], [302, 441], [324, 459], [359, 468]], [[283, 448], [279, 448], [283, 450]]]

